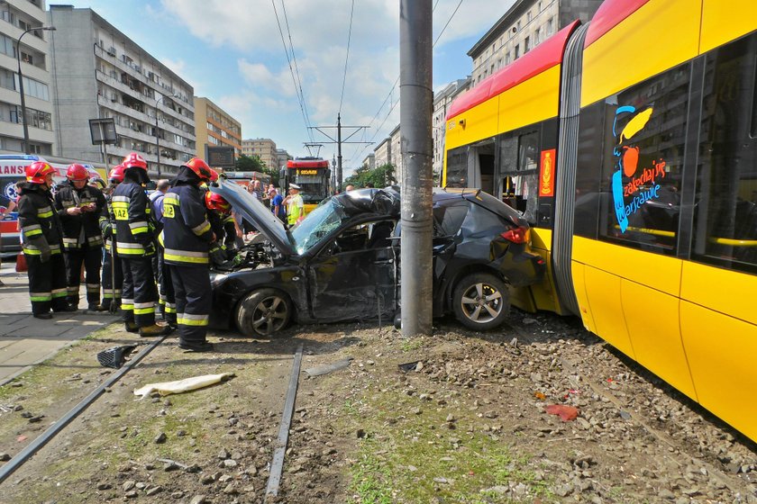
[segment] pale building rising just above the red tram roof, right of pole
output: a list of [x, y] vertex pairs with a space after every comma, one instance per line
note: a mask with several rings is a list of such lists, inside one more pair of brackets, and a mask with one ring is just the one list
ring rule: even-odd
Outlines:
[[470, 86], [509, 65], [561, 28], [586, 23], [602, 0], [516, 0], [468, 51], [473, 60]]

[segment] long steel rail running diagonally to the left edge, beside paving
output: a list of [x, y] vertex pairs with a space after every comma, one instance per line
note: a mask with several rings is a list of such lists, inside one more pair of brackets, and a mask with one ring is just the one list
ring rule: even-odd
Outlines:
[[32, 455], [36, 454], [41, 449], [42, 446], [47, 445], [48, 442], [50, 442], [50, 439], [58, 435], [58, 433], [63, 430], [63, 428], [66, 428], [66, 426], [68, 426], [68, 424], [71, 423], [72, 420], [76, 419], [84, 410], [87, 410], [87, 407], [95, 402], [96, 399], [100, 397], [103, 392], [105, 392], [105, 389], [120, 380], [124, 374], [129, 373], [129, 371], [132, 370], [132, 367], [139, 364], [144, 356], [150, 354], [150, 352], [154, 350], [155, 347], [158, 347], [160, 343], [162, 343], [166, 338], [167, 337], [164, 336], [163, 338], [160, 338], [151, 343], [148, 347], [137, 354], [137, 356], [132, 358], [132, 360], [129, 361], [127, 365], [124, 365], [120, 370], [118, 370], [118, 373], [108, 378], [105, 383], [101, 384], [93, 392], [90, 392], [90, 394], [82, 401], [80, 401], [72, 410], [69, 410], [68, 413], [66, 413], [61, 419], [56, 421], [50, 426], [50, 428], [44, 431], [39, 437], [34, 439], [34, 441], [32, 441], [29, 446], [26, 446], [21, 452], [15, 455], [14, 458], [3, 465], [3, 467], [0, 467], [0, 483], [5, 482], [5, 479], [8, 476], [13, 474], [16, 469], [25, 464], [32, 457]]

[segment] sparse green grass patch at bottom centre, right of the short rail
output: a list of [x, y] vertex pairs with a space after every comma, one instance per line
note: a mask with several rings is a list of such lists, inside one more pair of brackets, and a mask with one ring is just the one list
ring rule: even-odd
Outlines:
[[[381, 392], [383, 391], [383, 392]], [[525, 502], [554, 499], [531, 456], [483, 431], [474, 413], [373, 385], [350, 402], [345, 429], [362, 429], [351, 467], [353, 503]], [[360, 403], [360, 414], [354, 411]], [[452, 413], [456, 419], [447, 422]], [[457, 418], [459, 417], [459, 418]], [[521, 484], [517, 494], [493, 490]]]

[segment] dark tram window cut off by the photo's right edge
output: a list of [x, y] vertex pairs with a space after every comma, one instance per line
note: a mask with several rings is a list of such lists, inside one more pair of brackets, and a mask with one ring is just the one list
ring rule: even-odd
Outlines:
[[757, 273], [757, 35], [707, 54], [692, 257]]

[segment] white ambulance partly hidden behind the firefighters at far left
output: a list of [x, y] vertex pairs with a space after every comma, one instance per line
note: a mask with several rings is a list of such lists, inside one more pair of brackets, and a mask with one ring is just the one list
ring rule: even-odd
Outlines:
[[[5, 209], [8, 208], [10, 202], [15, 201], [18, 197], [16, 183], [26, 180], [24, 168], [35, 161], [50, 163], [50, 166], [55, 168], [57, 172], [53, 175], [53, 180], [55, 184], [59, 184], [66, 179], [68, 165], [76, 162], [68, 161], [68, 163], [65, 163], [64, 159], [57, 157], [54, 159], [53, 161], [51, 158], [24, 154], [0, 155], [0, 208], [4, 210], [4, 213], [0, 214], [0, 257], [14, 256], [21, 250], [18, 231], [18, 211], [5, 212]], [[103, 181], [106, 180], [105, 169], [97, 168], [89, 163], [79, 164], [87, 168], [90, 179], [99, 178]], [[53, 185], [54, 190], [55, 186]]]

